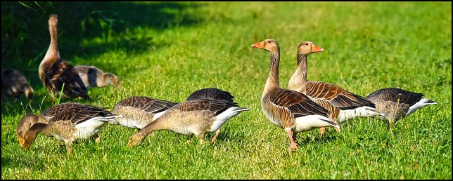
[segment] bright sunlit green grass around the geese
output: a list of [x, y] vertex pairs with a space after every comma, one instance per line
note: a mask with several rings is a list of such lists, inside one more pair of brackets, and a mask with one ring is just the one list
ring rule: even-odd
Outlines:
[[[53, 105], [37, 75], [44, 54], [37, 55], [26, 64], [30, 67], [23, 67], [32, 69], [27, 74], [36, 93], [32, 105], [26, 106], [25, 98], [1, 104], [2, 180], [452, 179], [451, 2], [154, 6], [160, 7], [120, 2], [101, 7], [105, 9], [99, 11], [115, 12], [115, 22], [125, 26], [75, 41], [79, 53], [65, 46], [75, 39], [65, 32], [71, 29], [73, 12], [58, 13], [62, 58], [122, 78], [121, 90], [92, 88], [91, 100], [72, 101], [113, 107], [129, 96], [146, 95], [181, 102], [199, 88], [216, 87], [231, 92], [250, 111], [222, 126], [215, 144], [200, 145], [193, 136], [161, 130], [128, 149], [136, 130], [106, 125], [99, 132], [100, 143], [83, 140], [72, 147], [70, 156], [58, 140], [44, 135], [24, 151], [15, 135], [18, 121]], [[147, 11], [150, 8], [155, 11]], [[46, 29], [49, 16], [42, 17], [36, 21]], [[41, 36], [46, 37], [40, 42], [45, 52], [49, 32]], [[357, 118], [342, 124], [340, 133], [328, 129], [323, 138], [318, 130], [299, 133], [300, 149], [288, 153], [285, 131], [270, 123], [260, 107], [269, 53], [250, 45], [268, 38], [281, 46], [283, 88], [295, 70], [298, 43], [309, 40], [324, 52], [310, 55], [308, 79], [363, 96], [398, 87], [423, 93], [438, 105], [419, 109], [393, 131], [382, 121]]]

